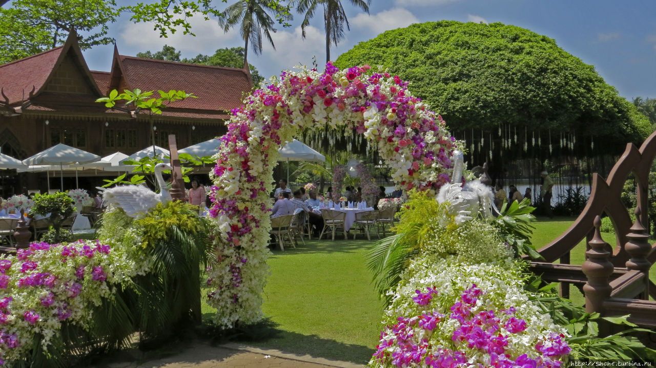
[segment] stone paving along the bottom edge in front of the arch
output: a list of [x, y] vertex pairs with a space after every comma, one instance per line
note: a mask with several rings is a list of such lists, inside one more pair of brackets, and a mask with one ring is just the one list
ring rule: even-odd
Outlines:
[[[136, 360], [136, 361], [135, 361]], [[197, 342], [165, 358], [148, 361], [107, 361], [92, 368], [363, 368], [364, 365], [298, 354], [279, 350], [253, 348], [242, 344], [211, 346]]]

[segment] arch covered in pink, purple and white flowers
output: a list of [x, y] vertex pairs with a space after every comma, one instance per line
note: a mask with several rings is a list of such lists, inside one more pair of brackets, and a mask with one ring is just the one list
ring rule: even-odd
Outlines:
[[329, 63], [323, 73], [283, 72], [232, 111], [211, 173], [216, 262], [207, 284], [216, 322], [231, 327], [262, 318], [273, 169], [279, 147], [301, 130], [345, 126], [364, 134], [403, 189], [434, 190], [449, 181], [456, 142], [407, 84], [369, 65], [340, 71]]

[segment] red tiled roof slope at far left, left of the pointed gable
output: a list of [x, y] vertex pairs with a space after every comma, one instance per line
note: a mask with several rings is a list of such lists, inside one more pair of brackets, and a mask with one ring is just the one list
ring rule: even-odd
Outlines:
[[[41, 89], [54, 68], [64, 46], [28, 56], [14, 62], [0, 65], [0, 88], [9, 97], [9, 103], [30, 99], [32, 87], [36, 93]], [[4, 101], [2, 97], [0, 101]]]

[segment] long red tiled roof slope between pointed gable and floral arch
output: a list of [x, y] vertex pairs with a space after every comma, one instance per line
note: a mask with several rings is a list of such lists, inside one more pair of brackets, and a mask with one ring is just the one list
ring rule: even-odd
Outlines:
[[241, 105], [242, 94], [253, 87], [243, 69], [119, 57], [123, 77], [132, 88], [184, 90], [198, 96], [175, 102], [176, 108], [230, 111]]

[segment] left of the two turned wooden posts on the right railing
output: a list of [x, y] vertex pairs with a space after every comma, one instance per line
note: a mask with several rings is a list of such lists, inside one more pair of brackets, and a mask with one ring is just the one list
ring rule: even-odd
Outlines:
[[599, 231], [601, 225], [601, 217], [594, 217], [594, 236], [589, 242], [590, 249], [585, 252], [587, 259], [581, 267], [588, 278], [588, 282], [583, 285], [585, 311], [588, 313], [602, 313], [604, 300], [611, 295], [609, 279], [613, 274], [613, 263], [609, 260], [611, 253], [606, 250], [608, 244], [604, 242]]

